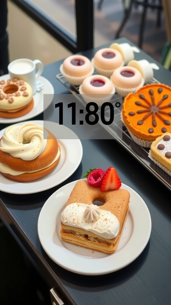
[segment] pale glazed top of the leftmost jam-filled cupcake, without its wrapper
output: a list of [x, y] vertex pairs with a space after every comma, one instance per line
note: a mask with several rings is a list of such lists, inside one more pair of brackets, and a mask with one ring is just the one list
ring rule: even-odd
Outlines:
[[91, 73], [92, 63], [83, 55], [72, 55], [64, 60], [62, 70], [64, 74], [82, 77]]

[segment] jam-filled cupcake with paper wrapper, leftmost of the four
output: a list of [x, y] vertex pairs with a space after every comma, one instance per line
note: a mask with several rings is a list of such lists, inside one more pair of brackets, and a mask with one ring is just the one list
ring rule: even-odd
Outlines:
[[94, 67], [87, 57], [72, 55], [64, 60], [60, 71], [68, 83], [79, 86], [86, 77], [94, 73]]

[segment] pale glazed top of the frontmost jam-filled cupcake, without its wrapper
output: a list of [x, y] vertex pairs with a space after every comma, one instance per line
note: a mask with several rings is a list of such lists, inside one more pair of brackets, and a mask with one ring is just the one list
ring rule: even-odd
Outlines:
[[92, 75], [82, 82], [81, 91], [83, 94], [111, 94], [113, 85], [106, 76]]

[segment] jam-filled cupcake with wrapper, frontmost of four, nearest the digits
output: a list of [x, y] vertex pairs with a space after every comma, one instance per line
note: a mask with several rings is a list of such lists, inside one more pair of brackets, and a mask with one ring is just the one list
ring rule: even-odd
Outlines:
[[95, 102], [98, 106], [101, 106], [104, 102], [110, 101], [115, 93], [115, 88], [108, 77], [92, 75], [82, 82], [79, 93], [82, 94], [85, 102]]

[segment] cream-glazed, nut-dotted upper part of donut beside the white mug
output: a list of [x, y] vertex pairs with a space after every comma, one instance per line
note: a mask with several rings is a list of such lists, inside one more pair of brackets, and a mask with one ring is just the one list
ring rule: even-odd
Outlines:
[[32, 88], [18, 78], [0, 81], [0, 109], [10, 111], [27, 105], [32, 99]]

